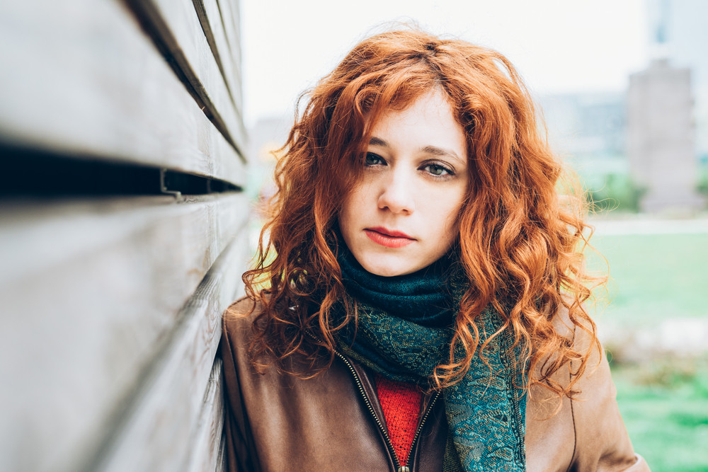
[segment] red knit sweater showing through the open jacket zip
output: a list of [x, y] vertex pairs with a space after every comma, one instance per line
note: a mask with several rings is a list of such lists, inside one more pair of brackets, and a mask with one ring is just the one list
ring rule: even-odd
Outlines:
[[376, 391], [396, 456], [401, 464], [406, 464], [418, 427], [423, 393], [413, 384], [387, 380], [379, 375], [376, 376]]

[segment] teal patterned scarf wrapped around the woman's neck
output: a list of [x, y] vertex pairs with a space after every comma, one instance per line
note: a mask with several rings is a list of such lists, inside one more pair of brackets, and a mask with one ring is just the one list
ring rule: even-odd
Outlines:
[[[449, 359], [452, 326], [467, 287], [455, 251], [411, 275], [379, 277], [364, 270], [343, 244], [338, 248], [346, 297], [358, 323], [340, 335], [338, 349], [387, 379], [430, 386], [433, 370]], [[343, 316], [343, 304], [333, 306]], [[501, 326], [496, 311], [479, 318], [480, 345]], [[525, 471], [524, 379], [518, 350], [505, 330], [442, 395], [448, 440], [443, 471]], [[491, 369], [490, 369], [491, 367]]]

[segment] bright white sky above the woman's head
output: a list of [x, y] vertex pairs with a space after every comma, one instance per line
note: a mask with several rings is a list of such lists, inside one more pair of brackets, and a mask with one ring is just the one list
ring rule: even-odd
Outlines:
[[535, 93], [619, 91], [649, 58], [644, 0], [241, 0], [246, 126], [290, 117], [367, 32], [411, 20], [502, 52]]

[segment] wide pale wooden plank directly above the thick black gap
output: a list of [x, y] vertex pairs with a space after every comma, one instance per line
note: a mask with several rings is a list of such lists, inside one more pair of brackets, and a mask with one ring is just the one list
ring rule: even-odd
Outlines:
[[4, 2], [0, 44], [0, 143], [244, 185], [242, 156], [122, 2]]

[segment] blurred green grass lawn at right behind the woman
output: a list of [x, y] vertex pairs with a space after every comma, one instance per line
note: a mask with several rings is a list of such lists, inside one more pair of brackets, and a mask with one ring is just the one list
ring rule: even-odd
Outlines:
[[[610, 266], [600, 316], [625, 330], [708, 316], [708, 234], [598, 236]], [[589, 267], [601, 267], [591, 257]], [[706, 340], [708, 344], [708, 340]], [[613, 364], [634, 449], [653, 472], [708, 471], [708, 359]]]

